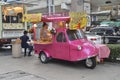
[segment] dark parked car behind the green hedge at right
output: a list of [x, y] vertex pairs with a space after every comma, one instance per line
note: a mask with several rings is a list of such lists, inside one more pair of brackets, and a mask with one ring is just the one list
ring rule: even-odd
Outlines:
[[102, 36], [103, 43], [116, 43], [120, 39], [118, 27], [95, 27], [90, 33]]

